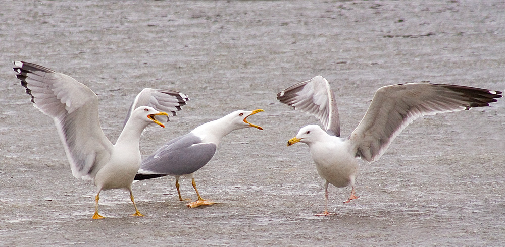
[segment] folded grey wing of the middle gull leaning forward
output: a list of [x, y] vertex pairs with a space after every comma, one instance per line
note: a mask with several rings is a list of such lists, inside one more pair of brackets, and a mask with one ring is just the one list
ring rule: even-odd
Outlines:
[[202, 143], [201, 138], [189, 133], [163, 145], [149, 157], [142, 160], [138, 173], [187, 175], [209, 162], [217, 146]]

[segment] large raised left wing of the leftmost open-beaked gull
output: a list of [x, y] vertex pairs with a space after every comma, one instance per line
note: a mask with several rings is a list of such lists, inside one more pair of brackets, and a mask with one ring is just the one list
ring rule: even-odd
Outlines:
[[96, 94], [65, 74], [22, 61], [13, 63], [34, 106], [55, 121], [72, 174], [92, 179], [113, 148], [100, 127]]

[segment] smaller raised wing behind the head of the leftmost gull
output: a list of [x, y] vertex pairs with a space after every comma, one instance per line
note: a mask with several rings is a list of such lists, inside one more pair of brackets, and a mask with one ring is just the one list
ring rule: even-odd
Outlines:
[[[159, 111], [164, 111], [169, 113], [171, 116], [177, 115], [177, 111], [181, 110], [181, 106], [186, 105], [186, 101], [189, 98], [186, 94], [179, 93], [173, 90], [163, 90], [163, 89], [152, 89], [144, 88], [140, 93], [137, 94], [135, 99], [130, 105], [130, 109], [126, 114], [126, 118], [123, 123], [123, 128], [126, 122], [130, 118], [131, 112], [139, 106], [150, 106]], [[156, 116], [157, 120], [161, 122], [169, 121], [168, 116]], [[153, 123], [156, 125], [156, 123]]]

